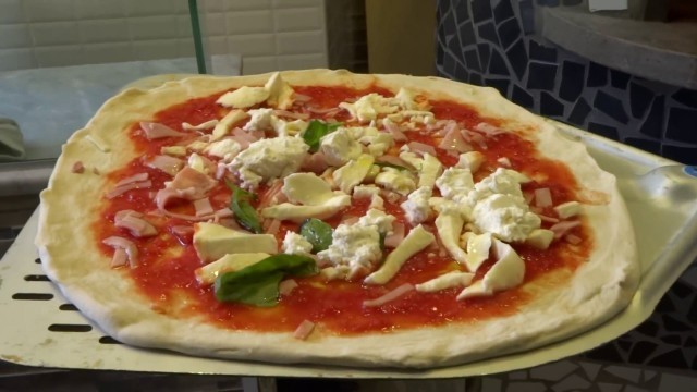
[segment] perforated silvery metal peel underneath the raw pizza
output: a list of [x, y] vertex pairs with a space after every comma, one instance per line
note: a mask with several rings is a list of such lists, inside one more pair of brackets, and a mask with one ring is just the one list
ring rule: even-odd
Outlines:
[[0, 359], [87, 369], [332, 378], [455, 378], [531, 367], [585, 352], [644, 321], [697, 257], [697, 180], [677, 163], [559, 124], [617, 176], [635, 226], [643, 282], [632, 304], [597, 329], [538, 350], [428, 370], [346, 369], [195, 358], [125, 346], [105, 336], [42, 274], [33, 245], [37, 213], [0, 261]]

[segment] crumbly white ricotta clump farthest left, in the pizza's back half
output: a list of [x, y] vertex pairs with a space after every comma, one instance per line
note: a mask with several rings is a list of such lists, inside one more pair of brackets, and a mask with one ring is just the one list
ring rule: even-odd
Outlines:
[[308, 149], [305, 140], [297, 137], [259, 139], [240, 152], [229, 169], [240, 173], [243, 187], [254, 189], [262, 180], [297, 172]]

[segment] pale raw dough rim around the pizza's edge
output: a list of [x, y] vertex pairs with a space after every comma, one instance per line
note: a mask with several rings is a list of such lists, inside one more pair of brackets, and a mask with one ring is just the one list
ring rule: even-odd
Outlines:
[[[307, 341], [298, 341], [292, 333], [230, 331], [198, 319], [174, 319], [157, 313], [126, 279], [127, 272], [109, 268], [109, 259], [97, 248], [90, 225], [110, 184], [90, 169], [107, 173], [135, 158], [124, 136], [132, 123], [189, 98], [262, 85], [269, 76], [200, 76], [149, 90], [124, 90], [107, 101], [63, 146], [49, 186], [41, 193], [36, 245], [49, 278], [114, 339], [137, 346], [244, 360], [424, 368], [555, 342], [608, 320], [628, 304], [640, 274], [632, 224], [614, 176], [596, 164], [584, 145], [562, 137], [553, 125], [509, 102], [492, 88], [438, 77], [310, 70], [283, 72], [282, 76], [291, 85], [362, 88], [376, 83], [393, 91], [411, 87], [429, 98], [474, 106], [486, 117], [508, 119], [502, 127], [527, 130], [527, 137], [536, 139], [545, 156], [568, 164], [585, 191], [603, 195], [601, 203], [586, 209], [595, 238], [590, 258], [567, 285], [541, 291], [513, 316], [481, 322], [353, 336], [314, 333]], [[71, 173], [77, 161], [87, 168], [81, 175]]]

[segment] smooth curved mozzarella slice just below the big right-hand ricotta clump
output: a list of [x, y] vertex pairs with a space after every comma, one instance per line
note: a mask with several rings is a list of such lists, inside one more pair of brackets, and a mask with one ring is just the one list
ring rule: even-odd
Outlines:
[[493, 293], [513, 289], [523, 283], [525, 278], [525, 262], [511, 245], [501, 241], [493, 241], [493, 252], [497, 262], [487, 271], [484, 278], [473, 285], [465, 287], [457, 301], [476, 296], [489, 296]]

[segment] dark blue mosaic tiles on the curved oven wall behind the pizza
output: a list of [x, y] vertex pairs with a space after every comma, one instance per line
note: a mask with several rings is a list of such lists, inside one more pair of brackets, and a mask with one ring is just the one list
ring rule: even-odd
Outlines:
[[539, 114], [697, 164], [697, 90], [612, 70], [545, 42], [535, 35], [535, 7], [559, 4], [439, 0], [438, 73], [494, 87]]

